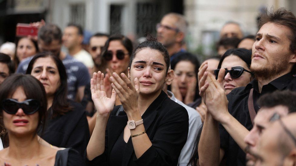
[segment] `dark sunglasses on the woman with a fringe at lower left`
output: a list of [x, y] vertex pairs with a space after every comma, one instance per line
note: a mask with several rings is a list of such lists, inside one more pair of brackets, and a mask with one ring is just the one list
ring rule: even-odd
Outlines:
[[20, 108], [25, 114], [33, 114], [40, 107], [39, 101], [35, 99], [28, 99], [23, 102], [18, 102], [14, 99], [4, 99], [2, 100], [1, 105], [2, 109], [8, 114], [15, 114]]

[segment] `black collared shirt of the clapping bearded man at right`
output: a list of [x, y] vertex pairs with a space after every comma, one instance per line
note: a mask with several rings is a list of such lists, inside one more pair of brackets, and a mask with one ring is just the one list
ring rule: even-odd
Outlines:
[[[262, 87], [261, 93], [258, 90], [257, 80], [253, 80], [246, 87], [239, 87], [232, 90], [228, 95], [228, 111], [229, 113], [237, 119], [244, 127], [249, 131], [253, 128], [249, 109], [248, 109], [248, 97], [250, 90], [254, 88], [253, 91], [253, 101], [256, 113], [258, 112], [260, 106], [257, 104], [259, 97], [265, 93], [270, 93], [275, 90], [296, 90], [296, 77], [291, 73], [285, 74], [267, 85]], [[229, 133], [224, 129], [224, 127], [219, 125], [220, 133], [220, 146], [225, 151], [224, 158], [227, 160], [227, 165], [246, 165], [246, 154], [237, 145], [234, 139], [229, 135]]]

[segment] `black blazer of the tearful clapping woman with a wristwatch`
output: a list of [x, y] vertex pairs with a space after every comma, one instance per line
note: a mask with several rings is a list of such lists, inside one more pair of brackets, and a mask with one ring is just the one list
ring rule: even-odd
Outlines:
[[[104, 153], [92, 161], [87, 161], [87, 165], [110, 164], [111, 150], [120, 139], [120, 134], [128, 121], [124, 111], [115, 116], [118, 109], [119, 106], [114, 107], [107, 123]], [[186, 109], [161, 91], [142, 118], [152, 146], [137, 159], [132, 139], [129, 139], [123, 152], [121, 165], [177, 165], [188, 134], [189, 122]]]

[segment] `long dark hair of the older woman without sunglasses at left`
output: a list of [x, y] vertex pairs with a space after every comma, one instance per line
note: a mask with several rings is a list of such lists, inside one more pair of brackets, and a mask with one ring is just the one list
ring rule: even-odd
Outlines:
[[28, 69], [26, 71], [26, 74], [31, 74], [33, 70], [33, 65], [39, 58], [46, 58], [50, 57], [55, 63], [56, 67], [59, 71], [60, 76], [60, 83], [61, 85], [58, 87], [54, 94], [53, 102], [52, 102], [52, 112], [53, 117], [57, 115], [64, 115], [66, 112], [70, 111], [72, 108], [69, 106], [69, 102], [67, 100], [67, 73], [66, 68], [62, 61], [55, 55], [53, 55], [51, 52], [41, 52], [36, 54], [33, 59], [30, 61], [28, 65]]

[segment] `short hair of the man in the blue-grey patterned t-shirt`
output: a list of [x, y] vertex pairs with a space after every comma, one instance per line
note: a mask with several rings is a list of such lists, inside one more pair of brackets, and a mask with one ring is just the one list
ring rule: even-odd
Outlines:
[[45, 24], [38, 31], [38, 40], [42, 40], [46, 45], [51, 44], [53, 40], [62, 43], [62, 31], [55, 24]]

